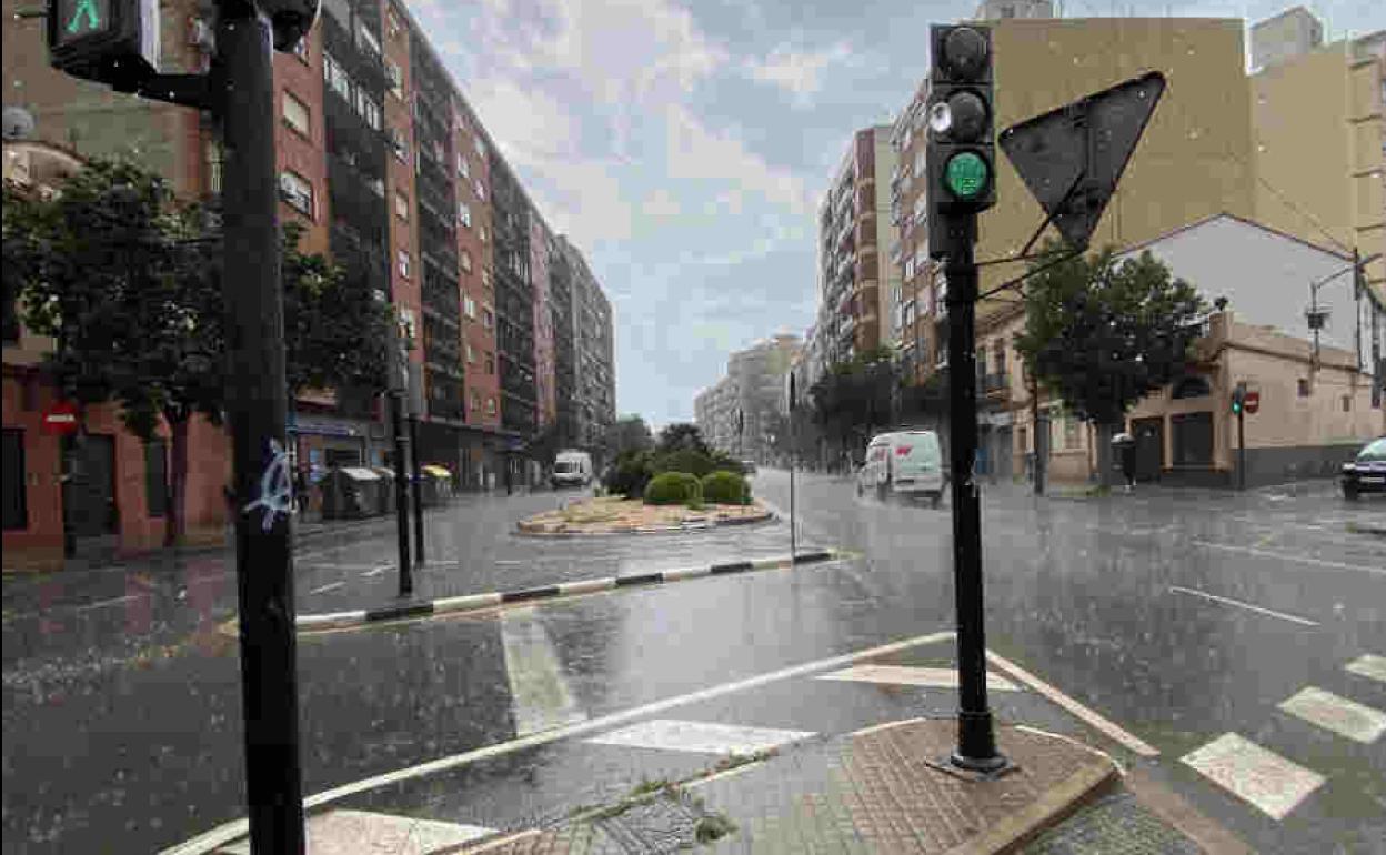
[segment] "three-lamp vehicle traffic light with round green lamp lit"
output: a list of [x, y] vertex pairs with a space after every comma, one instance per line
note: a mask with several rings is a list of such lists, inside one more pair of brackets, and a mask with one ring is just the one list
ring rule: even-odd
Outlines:
[[945, 218], [997, 204], [991, 105], [991, 30], [976, 24], [930, 28], [929, 254], [945, 255]]

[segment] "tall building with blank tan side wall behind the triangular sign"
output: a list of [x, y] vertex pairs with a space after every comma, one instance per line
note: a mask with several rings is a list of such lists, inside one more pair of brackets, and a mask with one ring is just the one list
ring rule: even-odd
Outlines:
[[[1254, 209], [1252, 133], [1242, 22], [1213, 18], [1008, 18], [988, 21], [995, 53], [995, 127], [1003, 129], [1148, 71], [1164, 73], [1164, 97], [1092, 236], [1124, 247], [1191, 220]], [[920, 380], [944, 363], [947, 283], [929, 261], [923, 194], [923, 80], [893, 127], [900, 168], [891, 179], [891, 258], [902, 277], [902, 353]], [[1003, 154], [997, 206], [979, 222], [979, 259], [1016, 255], [1044, 212]], [[987, 291], [1020, 265], [981, 269]], [[1009, 292], [977, 306], [999, 310]]]

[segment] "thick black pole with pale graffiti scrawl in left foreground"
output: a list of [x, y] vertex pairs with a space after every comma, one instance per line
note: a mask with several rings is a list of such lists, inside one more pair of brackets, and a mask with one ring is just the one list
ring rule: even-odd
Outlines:
[[304, 852], [290, 540], [284, 306], [269, 18], [219, 3], [216, 104], [226, 144], [223, 294], [236, 484], [236, 585], [251, 852]]

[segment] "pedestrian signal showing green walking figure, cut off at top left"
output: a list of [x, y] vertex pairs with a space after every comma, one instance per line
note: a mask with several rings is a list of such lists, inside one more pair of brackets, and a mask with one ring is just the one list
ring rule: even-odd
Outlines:
[[133, 91], [159, 69], [158, 0], [49, 0], [49, 62]]

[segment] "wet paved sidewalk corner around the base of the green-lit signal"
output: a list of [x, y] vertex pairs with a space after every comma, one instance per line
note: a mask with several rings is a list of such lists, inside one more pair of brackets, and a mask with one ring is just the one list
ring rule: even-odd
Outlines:
[[[1130, 795], [1074, 818], [1066, 836], [1055, 834], [1069, 829], [1063, 820], [1085, 800], [1121, 791], [1112, 758], [1067, 737], [1003, 726], [999, 746], [1015, 766], [981, 780], [947, 764], [955, 726], [951, 718], [911, 719], [811, 740], [726, 770], [638, 788], [553, 827], [448, 851], [672, 852], [708, 845], [723, 852], [980, 854], [1017, 851], [1049, 833], [1045, 852], [1096, 852], [1112, 849], [1074, 841], [1110, 829], [1120, 830], [1123, 852], [1203, 851]], [[322, 844], [328, 851], [326, 838]]]

